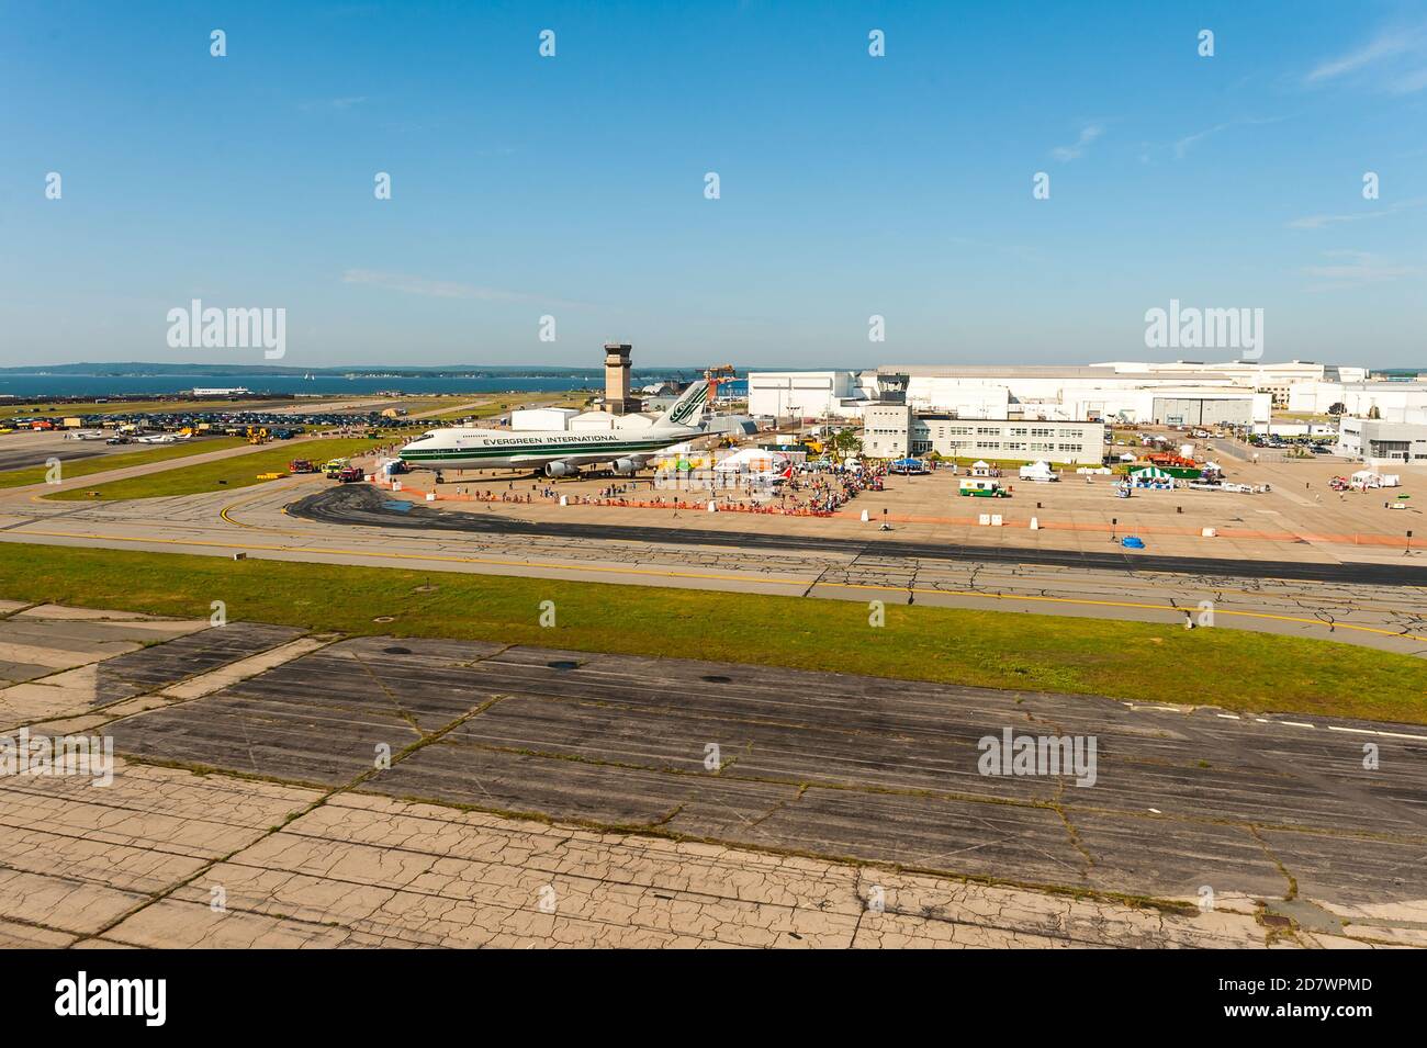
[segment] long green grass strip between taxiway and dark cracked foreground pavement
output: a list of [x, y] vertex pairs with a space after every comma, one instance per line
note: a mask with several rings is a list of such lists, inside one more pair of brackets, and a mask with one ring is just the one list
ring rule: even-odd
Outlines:
[[[432, 592], [422, 592], [431, 583]], [[0, 597], [1427, 723], [1427, 660], [1232, 629], [0, 543]], [[555, 602], [554, 627], [539, 626]], [[377, 623], [392, 616], [391, 623]], [[889, 684], [895, 687], [895, 684]]]

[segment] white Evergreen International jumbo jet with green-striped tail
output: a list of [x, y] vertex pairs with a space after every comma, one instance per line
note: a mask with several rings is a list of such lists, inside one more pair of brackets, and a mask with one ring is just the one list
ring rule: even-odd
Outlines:
[[608, 462], [616, 473], [644, 469], [664, 448], [704, 435], [699, 418], [716, 385], [705, 378], [688, 389], [648, 429], [612, 432], [432, 429], [404, 446], [402, 462], [425, 469], [539, 469], [572, 476], [581, 466]]

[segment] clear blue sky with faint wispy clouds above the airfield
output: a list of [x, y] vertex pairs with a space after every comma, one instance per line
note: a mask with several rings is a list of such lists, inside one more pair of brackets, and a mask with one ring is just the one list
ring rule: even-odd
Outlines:
[[191, 298], [295, 366], [1232, 356], [1177, 298], [1427, 368], [1424, 3], [0, 9], [4, 365], [261, 362]]

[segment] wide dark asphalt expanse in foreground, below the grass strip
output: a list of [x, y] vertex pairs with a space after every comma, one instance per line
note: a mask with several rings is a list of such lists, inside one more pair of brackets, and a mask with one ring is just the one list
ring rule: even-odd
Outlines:
[[[1093, 736], [1096, 783], [982, 774], [982, 740], [1005, 729]], [[360, 788], [955, 875], [1281, 897], [1281, 864], [1319, 898], [1427, 895], [1410, 861], [1427, 853], [1410, 800], [1427, 796], [1427, 760], [1380, 736], [1390, 773], [1366, 773], [1361, 736], [1326, 724], [361, 637], [110, 731], [120, 753], [332, 786], [385, 747], [391, 767]]]

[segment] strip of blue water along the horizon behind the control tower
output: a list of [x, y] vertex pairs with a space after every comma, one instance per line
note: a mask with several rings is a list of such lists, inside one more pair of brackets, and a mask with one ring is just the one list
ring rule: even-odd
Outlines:
[[[370, 396], [397, 389], [404, 394], [492, 394], [492, 392], [565, 392], [601, 388], [594, 378], [341, 378], [317, 375], [0, 375], [0, 394], [11, 396], [120, 396], [187, 394], [201, 389], [245, 386], [254, 394], [307, 394], [317, 396]], [[723, 396], [748, 394], [739, 379], [721, 389]]]

